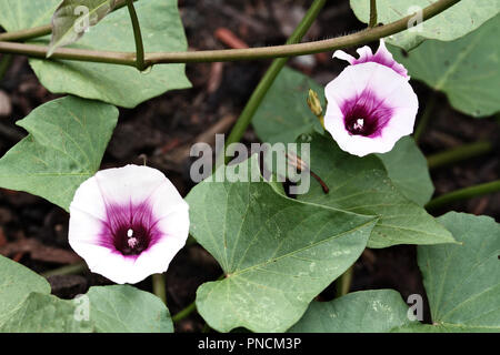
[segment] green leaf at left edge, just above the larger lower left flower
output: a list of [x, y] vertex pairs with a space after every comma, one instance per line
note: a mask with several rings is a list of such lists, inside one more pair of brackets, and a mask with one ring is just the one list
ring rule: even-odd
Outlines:
[[78, 186], [99, 170], [117, 119], [117, 108], [74, 97], [38, 106], [17, 122], [30, 134], [0, 159], [0, 186], [68, 210]]

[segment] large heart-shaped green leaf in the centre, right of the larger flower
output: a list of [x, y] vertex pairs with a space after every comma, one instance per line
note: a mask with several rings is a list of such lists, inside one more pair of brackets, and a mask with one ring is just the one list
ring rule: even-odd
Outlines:
[[358, 258], [374, 220], [288, 199], [267, 182], [231, 183], [234, 175], [228, 176], [201, 182], [187, 197], [191, 234], [226, 275], [198, 288], [198, 312], [220, 332], [283, 332]]

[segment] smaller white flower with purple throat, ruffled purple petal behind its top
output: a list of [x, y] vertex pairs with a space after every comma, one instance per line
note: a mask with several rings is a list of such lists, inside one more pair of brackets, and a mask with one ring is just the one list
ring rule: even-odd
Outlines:
[[369, 47], [358, 53], [359, 59], [342, 51], [333, 54], [350, 65], [324, 89], [324, 129], [351, 154], [386, 153], [413, 132], [418, 99], [407, 70], [393, 60], [383, 40], [376, 54]]

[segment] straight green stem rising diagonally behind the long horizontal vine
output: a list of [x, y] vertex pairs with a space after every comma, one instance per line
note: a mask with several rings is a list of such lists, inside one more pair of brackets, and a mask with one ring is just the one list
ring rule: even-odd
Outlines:
[[[311, 4], [308, 12], [303, 17], [302, 21], [300, 21], [299, 26], [296, 28], [293, 33], [288, 39], [287, 44], [297, 43], [302, 39], [302, 37], [312, 26], [312, 22], [314, 22], [316, 18], [318, 17], [319, 12], [321, 11], [326, 2], [327, 2], [326, 0], [314, 0], [314, 2]], [[234, 126], [232, 128], [231, 133], [226, 140], [226, 146], [228, 146], [231, 143], [239, 142], [241, 140], [241, 136], [243, 136], [243, 133], [247, 130], [248, 125], [250, 124], [253, 114], [256, 113], [257, 109], [259, 108], [260, 103], [266, 97], [266, 93], [268, 92], [269, 88], [274, 82], [274, 79], [278, 77], [281, 69], [283, 69], [287, 61], [288, 58], [278, 58], [271, 63], [268, 71], [262, 77], [252, 95], [250, 97], [249, 101], [247, 102]], [[227, 163], [229, 160], [228, 158], [226, 158], [224, 154], [226, 146], [223, 152], [218, 153], [219, 155], [217, 156], [216, 168], [220, 166], [223, 163]]]

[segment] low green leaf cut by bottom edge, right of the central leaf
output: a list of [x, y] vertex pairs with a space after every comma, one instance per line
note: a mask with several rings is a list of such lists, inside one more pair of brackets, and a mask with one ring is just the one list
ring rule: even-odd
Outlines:
[[[387, 333], [417, 321], [393, 290], [360, 291], [331, 302], [312, 302], [291, 333]], [[419, 322], [417, 322], [420, 325]]]

